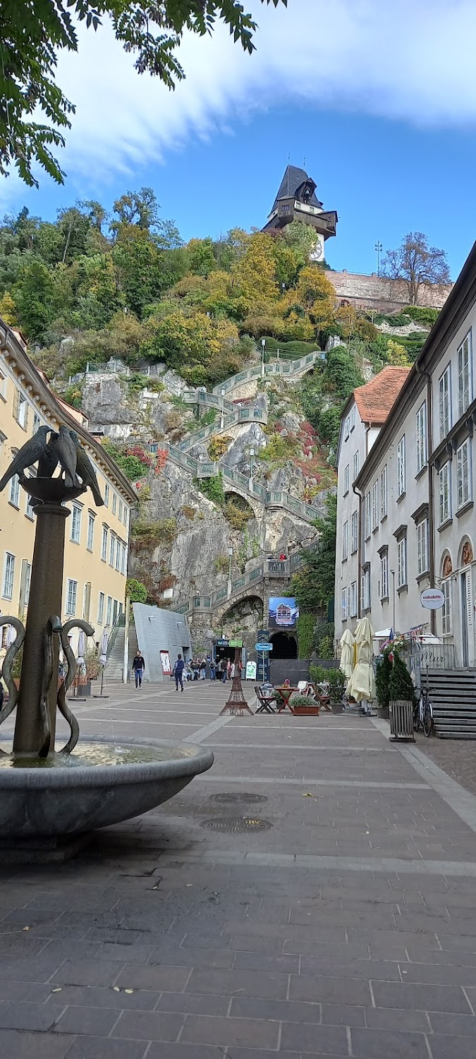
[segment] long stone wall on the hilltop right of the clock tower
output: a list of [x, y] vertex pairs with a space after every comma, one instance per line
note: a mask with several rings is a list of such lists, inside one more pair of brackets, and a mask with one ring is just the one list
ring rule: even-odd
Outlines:
[[[359, 272], [327, 272], [340, 301], [351, 302], [355, 308], [372, 308], [377, 312], [400, 310], [408, 305], [408, 288], [399, 280], [383, 275], [361, 275]], [[441, 309], [453, 289], [453, 284], [421, 285], [418, 304]]]

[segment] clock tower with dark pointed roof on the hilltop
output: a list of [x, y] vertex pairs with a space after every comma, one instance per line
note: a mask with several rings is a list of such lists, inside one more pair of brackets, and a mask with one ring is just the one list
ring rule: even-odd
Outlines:
[[292, 220], [311, 225], [316, 239], [310, 259], [322, 262], [325, 258], [326, 239], [335, 235], [337, 214], [335, 210], [323, 209], [323, 203], [315, 194], [316, 186], [305, 169], [288, 165], [268, 221], [261, 231], [272, 232], [277, 228], [285, 228]]

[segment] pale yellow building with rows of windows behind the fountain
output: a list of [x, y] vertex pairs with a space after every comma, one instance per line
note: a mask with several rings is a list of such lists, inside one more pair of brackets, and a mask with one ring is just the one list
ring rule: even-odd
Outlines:
[[[70, 503], [66, 526], [62, 620], [85, 617], [95, 641], [124, 609], [130, 509], [135, 493], [114, 461], [88, 433], [81, 412], [59, 400], [26, 353], [22, 336], [0, 321], [0, 478], [15, 452], [40, 426], [76, 430], [94, 465], [104, 507], [91, 493]], [[15, 475], [0, 493], [0, 613], [28, 610], [35, 514]], [[0, 627], [0, 648], [6, 626]], [[3, 653], [3, 651], [2, 651]]]

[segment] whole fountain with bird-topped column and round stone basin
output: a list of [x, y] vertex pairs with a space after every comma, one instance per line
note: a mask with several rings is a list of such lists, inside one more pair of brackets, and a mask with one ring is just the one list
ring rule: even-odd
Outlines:
[[[50, 435], [50, 436], [48, 436]], [[38, 465], [37, 474], [25, 474]], [[58, 475], [56, 468], [60, 465]], [[191, 743], [128, 739], [80, 742], [78, 722], [67, 703], [77, 668], [70, 646], [72, 629], [91, 636], [87, 622], [61, 624], [66, 519], [65, 501], [91, 488], [103, 503], [94, 468], [78, 436], [67, 427], [59, 433], [40, 427], [17, 452], [0, 481], [0, 491], [14, 475], [33, 498], [37, 526], [32, 561], [26, 627], [15, 616], [0, 617], [16, 639], [8, 647], [1, 676], [10, 697], [0, 710], [0, 725], [16, 708], [11, 753], [0, 748], [0, 861], [48, 862], [72, 857], [99, 827], [138, 816], [182, 790], [210, 768], [214, 755]], [[68, 664], [57, 686], [59, 649]], [[20, 686], [12, 677], [22, 650]], [[70, 729], [56, 750], [57, 713]]]

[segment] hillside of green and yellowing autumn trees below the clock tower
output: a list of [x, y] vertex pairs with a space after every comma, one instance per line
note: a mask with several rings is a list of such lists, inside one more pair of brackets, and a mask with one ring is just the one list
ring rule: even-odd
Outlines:
[[388, 328], [421, 313], [429, 325], [433, 310], [385, 323], [336, 307], [331, 270], [309, 263], [312, 239], [312, 229], [293, 222], [273, 235], [237, 228], [184, 244], [147, 187], [123, 195], [110, 216], [95, 201], [58, 211], [54, 222], [23, 209], [0, 228], [0, 316], [23, 331], [36, 363], [70, 399], [69, 376], [88, 361], [162, 361], [191, 385], [214, 385], [240, 371], [257, 341], [260, 352], [262, 337], [267, 358], [277, 347], [295, 358], [338, 336], [301, 395], [308, 419], [332, 444], [342, 402], [365, 373], [409, 362], [426, 337], [395, 341]]

